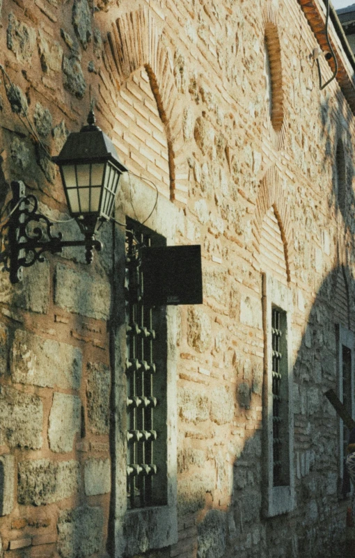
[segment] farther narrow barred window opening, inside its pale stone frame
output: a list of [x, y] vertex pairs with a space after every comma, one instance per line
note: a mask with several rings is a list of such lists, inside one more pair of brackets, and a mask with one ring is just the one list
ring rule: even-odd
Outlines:
[[286, 313], [272, 308], [272, 426], [274, 486], [287, 486], [288, 467], [288, 378]]

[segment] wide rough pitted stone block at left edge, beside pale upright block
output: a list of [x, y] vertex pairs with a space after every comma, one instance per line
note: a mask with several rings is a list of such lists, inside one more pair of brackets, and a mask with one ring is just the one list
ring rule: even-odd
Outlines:
[[40, 449], [43, 407], [36, 395], [0, 388], [0, 445]]

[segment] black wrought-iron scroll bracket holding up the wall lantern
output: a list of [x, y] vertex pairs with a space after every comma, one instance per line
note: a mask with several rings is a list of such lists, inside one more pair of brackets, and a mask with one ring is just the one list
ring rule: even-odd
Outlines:
[[63, 241], [61, 232], [56, 236], [52, 234], [54, 223], [38, 212], [36, 196], [26, 196], [24, 183], [14, 181], [11, 183], [11, 189], [13, 199], [10, 202], [10, 216], [0, 229], [3, 245], [0, 262], [3, 263], [3, 271], [10, 273], [10, 282], [17, 283], [22, 280], [24, 267], [44, 262], [43, 253], [61, 253], [63, 248], [68, 246], [85, 246], [86, 262], [90, 264], [93, 261], [94, 248], [100, 251], [102, 244], [95, 239], [92, 228], [86, 228], [84, 223], [77, 221], [85, 238]]

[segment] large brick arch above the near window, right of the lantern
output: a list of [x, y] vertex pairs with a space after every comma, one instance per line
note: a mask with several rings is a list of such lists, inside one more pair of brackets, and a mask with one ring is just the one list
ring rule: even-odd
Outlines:
[[[180, 157], [183, 145], [182, 118], [178, 104], [171, 56], [149, 8], [139, 8], [116, 19], [107, 33], [105, 56], [111, 79], [118, 87], [129, 76], [144, 67], [155, 96], [161, 122], [168, 141], [170, 198], [179, 198], [177, 191], [186, 191], [187, 162]], [[177, 184], [178, 182], [178, 184]], [[181, 196], [180, 196], [181, 198]]]

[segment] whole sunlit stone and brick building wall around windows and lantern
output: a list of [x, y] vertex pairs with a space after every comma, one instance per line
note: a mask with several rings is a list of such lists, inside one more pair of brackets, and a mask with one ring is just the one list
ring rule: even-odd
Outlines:
[[[342, 74], [319, 91], [303, 4], [0, 2], [1, 207], [17, 179], [50, 218], [68, 218], [43, 145], [58, 154], [91, 96], [123, 162], [157, 186], [146, 225], [168, 244], [201, 244], [204, 279], [203, 305], [168, 314], [178, 536], [158, 549], [145, 519], [136, 546], [123, 529], [125, 318], [111, 288], [122, 229], [102, 228], [105, 248], [90, 267], [66, 249], [15, 287], [1, 274], [4, 557], [324, 558], [340, 549], [339, 426], [323, 393], [337, 389], [335, 324], [354, 331], [354, 84], [333, 33]], [[322, 2], [312, 5], [322, 20]], [[331, 77], [323, 58], [321, 67]], [[334, 186], [339, 140], [345, 204]], [[154, 204], [154, 189], [132, 175], [116, 216], [143, 222]], [[75, 238], [77, 225], [66, 227]], [[269, 518], [262, 273], [293, 307], [295, 506]]]

